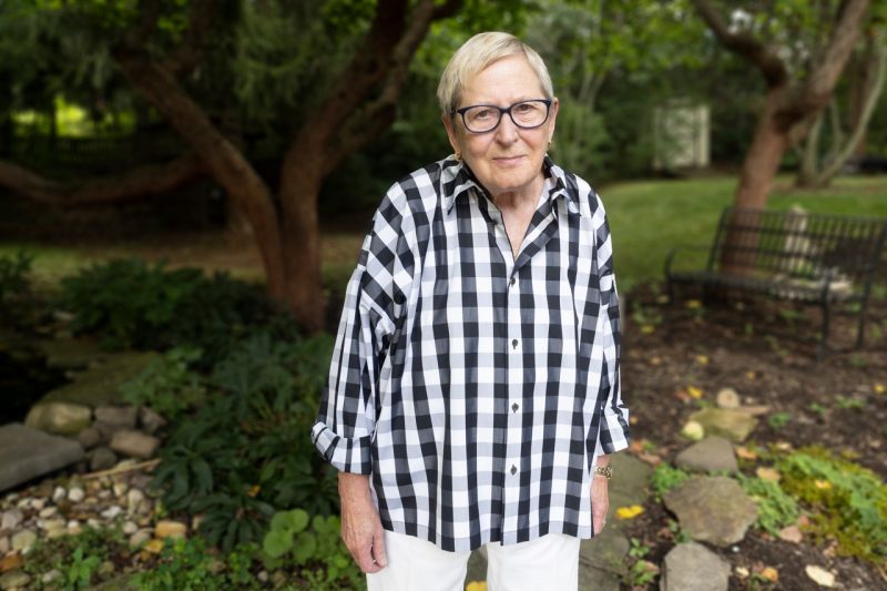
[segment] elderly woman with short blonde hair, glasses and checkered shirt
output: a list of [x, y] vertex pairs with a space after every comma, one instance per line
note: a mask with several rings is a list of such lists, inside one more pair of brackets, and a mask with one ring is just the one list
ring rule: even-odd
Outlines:
[[471, 38], [438, 99], [456, 153], [379, 206], [313, 438], [370, 590], [462, 589], [483, 546], [491, 590], [577, 589], [629, 432], [604, 210], [517, 38]]

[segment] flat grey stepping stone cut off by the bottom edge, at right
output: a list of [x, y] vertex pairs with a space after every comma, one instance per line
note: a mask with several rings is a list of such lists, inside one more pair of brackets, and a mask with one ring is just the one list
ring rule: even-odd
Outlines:
[[666, 556], [660, 591], [726, 591], [730, 563], [696, 542], [679, 543]]

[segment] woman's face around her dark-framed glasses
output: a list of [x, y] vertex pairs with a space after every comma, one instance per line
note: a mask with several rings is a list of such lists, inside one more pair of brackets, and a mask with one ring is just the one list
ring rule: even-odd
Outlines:
[[[481, 70], [462, 88], [458, 108], [495, 104], [508, 108], [520, 101], [544, 99], [542, 84], [523, 55], [509, 55]], [[514, 193], [538, 198], [542, 190], [542, 160], [554, 133], [558, 100], [551, 103], [544, 124], [533, 130], [514, 125], [503, 113], [499, 125], [472, 133], [460, 115], [443, 115], [450, 144], [461, 154], [478, 181], [493, 197]]]

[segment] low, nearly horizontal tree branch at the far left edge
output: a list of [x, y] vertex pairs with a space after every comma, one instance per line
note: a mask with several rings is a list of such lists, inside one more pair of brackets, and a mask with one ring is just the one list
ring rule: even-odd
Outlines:
[[186, 154], [166, 164], [140, 166], [122, 174], [62, 184], [0, 160], [0, 186], [50, 205], [116, 203], [146, 194], [165, 193], [205, 174], [203, 162], [194, 154]]

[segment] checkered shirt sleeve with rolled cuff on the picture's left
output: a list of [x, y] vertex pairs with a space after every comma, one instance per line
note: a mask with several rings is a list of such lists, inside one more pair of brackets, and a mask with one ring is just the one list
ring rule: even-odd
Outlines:
[[398, 278], [409, 276], [406, 266], [411, 266], [404, 221], [389, 192], [346, 289], [329, 378], [312, 429], [319, 454], [340, 471], [371, 472], [379, 377], [404, 299]]

